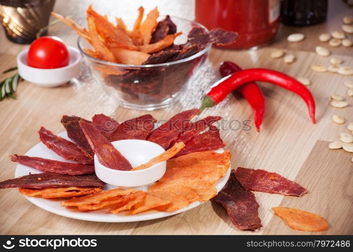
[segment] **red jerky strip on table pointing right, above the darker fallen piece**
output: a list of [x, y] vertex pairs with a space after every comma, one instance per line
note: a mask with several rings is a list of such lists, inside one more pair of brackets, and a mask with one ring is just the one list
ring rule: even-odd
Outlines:
[[236, 177], [250, 191], [296, 197], [308, 193], [306, 188], [275, 172], [238, 167]]

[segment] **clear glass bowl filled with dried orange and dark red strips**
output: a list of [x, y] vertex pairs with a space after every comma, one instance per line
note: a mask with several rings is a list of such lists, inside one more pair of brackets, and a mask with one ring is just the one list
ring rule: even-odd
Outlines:
[[[134, 20], [124, 19], [129, 28]], [[208, 32], [203, 25], [194, 21], [177, 17], [171, 17], [171, 20], [177, 25], [178, 31], [183, 32], [175, 39], [175, 44], [186, 43], [188, 33], [194, 26]], [[81, 37], [78, 47], [91, 74], [109, 96], [119, 100], [126, 108], [153, 110], [169, 106], [185, 93], [207, 58], [211, 44], [184, 59], [156, 65], [125, 65], [96, 59], [83, 51], [83, 48], [92, 46]]]

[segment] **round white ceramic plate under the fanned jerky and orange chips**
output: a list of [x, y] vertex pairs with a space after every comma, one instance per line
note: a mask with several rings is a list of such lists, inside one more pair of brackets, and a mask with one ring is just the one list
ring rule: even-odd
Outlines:
[[[67, 134], [66, 132], [58, 134], [58, 136], [61, 136], [67, 140]], [[224, 150], [219, 149], [216, 152], [222, 153]], [[64, 158], [58, 156], [56, 153], [53, 151], [49, 150], [44, 144], [39, 143], [36, 146], [34, 146], [32, 149], [30, 149], [25, 155], [27, 156], [32, 156], [32, 157], [42, 157], [42, 158], [49, 158], [53, 160], [58, 160], [58, 161], [66, 161], [70, 162], [68, 160], [65, 160]], [[74, 163], [74, 162], [73, 162]], [[16, 167], [15, 171], [15, 177], [23, 176], [23, 175], [28, 175], [29, 172], [31, 173], [41, 173], [41, 171], [28, 167], [26, 165], [18, 164]], [[220, 178], [217, 183], [216, 183], [216, 188], [217, 192], [219, 192], [225, 183], [227, 182], [228, 178], [230, 175], [230, 167], [226, 174]], [[111, 188], [115, 188], [115, 186], [112, 185], [105, 185], [103, 190], [108, 190]], [[145, 188], [147, 190], [147, 187]], [[188, 211], [194, 207], [197, 207], [201, 205], [204, 202], [193, 202], [191, 203], [188, 207], [180, 209], [175, 212], [159, 212], [155, 210], [147, 211], [144, 213], [139, 213], [135, 215], [127, 215], [127, 212], [121, 212], [118, 214], [112, 214], [112, 213], [107, 213], [106, 210], [100, 210], [100, 211], [91, 211], [91, 212], [80, 212], [74, 209], [69, 209], [66, 207], [61, 207], [60, 204], [63, 200], [61, 199], [56, 199], [56, 200], [48, 200], [48, 199], [42, 199], [40, 197], [27, 197], [27, 200], [32, 202], [34, 205], [57, 215], [73, 218], [73, 219], [79, 219], [79, 220], [87, 220], [87, 221], [97, 221], [97, 222], [133, 222], [133, 221], [144, 221], [144, 220], [152, 220], [152, 219], [158, 219], [158, 218], [163, 218], [167, 216], [171, 216], [174, 214], [179, 214], [185, 211]]]

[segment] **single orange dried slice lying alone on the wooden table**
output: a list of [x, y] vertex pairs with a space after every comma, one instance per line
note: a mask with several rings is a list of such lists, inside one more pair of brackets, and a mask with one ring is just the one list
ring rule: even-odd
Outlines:
[[272, 210], [292, 229], [306, 232], [320, 232], [328, 228], [327, 221], [318, 214], [287, 207], [273, 207]]

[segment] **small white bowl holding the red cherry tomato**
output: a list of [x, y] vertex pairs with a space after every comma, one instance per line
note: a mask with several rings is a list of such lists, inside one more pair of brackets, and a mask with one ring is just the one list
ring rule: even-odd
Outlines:
[[20, 76], [37, 86], [56, 87], [68, 83], [81, 71], [81, 53], [74, 47], [68, 46], [70, 61], [69, 65], [63, 68], [40, 69], [27, 65], [28, 49], [21, 51], [17, 55], [17, 67]]

